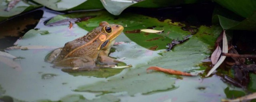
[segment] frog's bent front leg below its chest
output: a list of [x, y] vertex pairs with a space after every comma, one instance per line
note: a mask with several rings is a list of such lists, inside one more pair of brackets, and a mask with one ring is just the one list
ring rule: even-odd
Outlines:
[[108, 57], [108, 54], [106, 53], [106, 51], [99, 52], [98, 61], [100, 61], [100, 63], [102, 63], [102, 64], [108, 64], [111, 66], [114, 66], [120, 62], [120, 61], [117, 61], [117, 60], [114, 60], [114, 59]]

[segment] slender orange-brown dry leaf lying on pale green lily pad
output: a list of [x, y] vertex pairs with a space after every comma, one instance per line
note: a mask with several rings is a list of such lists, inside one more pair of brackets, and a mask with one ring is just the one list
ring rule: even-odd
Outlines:
[[148, 70], [161, 71], [161, 72], [164, 72], [164, 73], [169, 73], [169, 74], [174, 74], [174, 75], [192, 76], [191, 74], [185, 73], [185, 72], [182, 72], [182, 71], [176, 71], [176, 70], [172, 70], [172, 69], [164, 69], [164, 68], [156, 67], [156, 66], [149, 67], [147, 69], [147, 73], [148, 73]]

